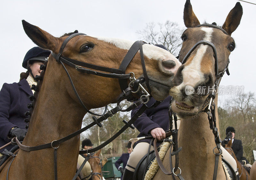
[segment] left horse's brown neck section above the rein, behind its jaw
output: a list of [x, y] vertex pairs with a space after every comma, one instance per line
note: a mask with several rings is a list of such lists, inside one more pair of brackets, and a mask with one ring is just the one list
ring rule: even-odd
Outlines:
[[45, 75], [24, 143], [30, 146], [49, 143], [81, 128], [86, 112], [70, 97], [65, 89], [67, 85], [61, 81], [57, 76]]

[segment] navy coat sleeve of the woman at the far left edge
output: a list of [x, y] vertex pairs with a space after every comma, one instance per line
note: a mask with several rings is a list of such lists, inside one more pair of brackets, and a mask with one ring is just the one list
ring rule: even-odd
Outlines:
[[9, 111], [11, 106], [11, 96], [10, 90], [7, 83], [4, 83], [0, 91], [0, 137], [5, 141], [10, 141], [8, 139], [9, 131], [15, 127], [9, 119]]

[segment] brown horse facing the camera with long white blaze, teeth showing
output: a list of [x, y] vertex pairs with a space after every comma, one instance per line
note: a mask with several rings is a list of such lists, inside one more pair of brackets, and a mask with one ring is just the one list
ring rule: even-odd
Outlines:
[[[203, 40], [215, 46], [218, 66], [213, 56], [214, 49], [209, 45], [210, 43], [207, 45], [200, 44], [190, 55], [188, 54], [186, 62], [178, 69], [174, 77], [176, 86], [170, 90], [170, 95], [175, 99], [172, 101], [171, 108], [181, 118], [178, 133], [178, 145], [182, 147], [179, 153], [179, 168], [184, 179], [213, 178], [215, 154], [212, 151], [216, 144], [212, 130], [209, 128], [208, 116], [203, 111], [207, 105], [208, 94], [211, 93], [210, 88], [213, 87], [217, 79], [216, 66], [219, 69], [217, 73], [224, 71], [229, 61], [230, 52], [235, 48], [235, 42], [230, 35], [240, 24], [242, 14], [242, 6], [240, 3], [236, 3], [236, 6], [229, 12], [222, 26], [223, 29], [216, 26], [210, 27], [211, 25], [208, 24], [200, 26], [190, 1], [187, 0], [185, 3], [184, 23], [188, 29], [181, 36], [183, 44], [180, 50], [180, 61], [197, 42]], [[201, 88], [204, 91], [200, 91], [200, 87], [204, 87], [205, 90]], [[208, 92], [208, 90], [210, 91]], [[218, 97], [216, 96], [214, 100], [216, 126], [219, 128], [217, 100]], [[166, 169], [170, 169], [169, 151], [163, 160]], [[172, 162], [174, 167], [175, 159], [173, 156]], [[175, 174], [179, 173], [180, 170], [178, 169]], [[161, 170], [158, 170], [154, 176], [154, 179], [167, 178], [171, 177], [164, 175]], [[226, 179], [220, 156], [217, 179]]]

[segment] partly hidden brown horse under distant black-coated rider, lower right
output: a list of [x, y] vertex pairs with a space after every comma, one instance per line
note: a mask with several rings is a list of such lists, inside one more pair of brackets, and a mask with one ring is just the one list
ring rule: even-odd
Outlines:
[[236, 160], [236, 167], [238, 168], [240, 179], [241, 180], [250, 180], [251, 178], [250, 178], [249, 172], [247, 172], [247, 170], [244, 168], [244, 166], [241, 164], [241, 162], [239, 162], [237, 160], [236, 155], [235, 155], [233, 149], [231, 148], [231, 146], [232, 146], [232, 139], [229, 140], [228, 144], [226, 144], [224, 148]]

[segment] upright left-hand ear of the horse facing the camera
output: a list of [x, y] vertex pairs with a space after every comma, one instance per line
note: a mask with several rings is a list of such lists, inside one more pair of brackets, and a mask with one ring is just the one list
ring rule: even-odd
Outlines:
[[192, 9], [190, 0], [186, 1], [183, 14], [183, 19], [186, 27], [196, 27], [200, 25], [200, 22]]

